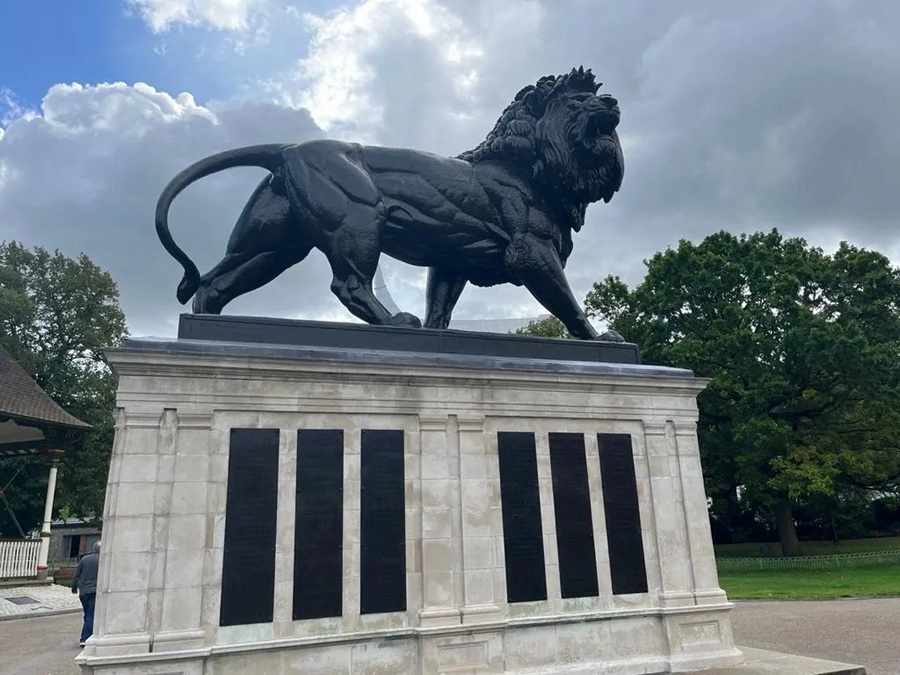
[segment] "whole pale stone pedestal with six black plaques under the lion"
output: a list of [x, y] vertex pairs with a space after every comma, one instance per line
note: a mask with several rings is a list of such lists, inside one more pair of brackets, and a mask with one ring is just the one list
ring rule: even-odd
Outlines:
[[85, 672], [630, 674], [740, 656], [690, 372], [186, 339], [109, 360]]

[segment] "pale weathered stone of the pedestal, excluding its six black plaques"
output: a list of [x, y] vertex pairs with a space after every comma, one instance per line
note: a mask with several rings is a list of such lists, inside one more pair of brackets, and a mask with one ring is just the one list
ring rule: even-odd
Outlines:
[[[86, 672], [626, 674], [740, 658], [695, 481], [705, 382], [689, 372], [180, 340], [131, 340], [109, 358], [120, 413]], [[280, 430], [274, 615], [220, 627], [229, 435], [238, 427]], [[341, 616], [295, 621], [303, 428], [343, 430], [343, 595]], [[360, 612], [364, 429], [403, 432], [402, 612]], [[508, 602], [500, 431], [536, 441], [546, 600]], [[584, 435], [595, 597], [562, 597], [552, 432]], [[598, 434], [632, 439], [645, 593], [612, 592]], [[155, 459], [155, 473], [132, 457]]]

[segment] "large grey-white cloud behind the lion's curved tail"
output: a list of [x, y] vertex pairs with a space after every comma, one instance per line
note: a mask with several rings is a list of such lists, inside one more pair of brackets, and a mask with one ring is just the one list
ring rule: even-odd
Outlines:
[[[0, 240], [87, 253], [119, 284], [132, 330], [171, 333], [183, 308], [174, 297], [180, 268], [153, 227], [156, 199], [181, 169], [220, 150], [316, 138], [309, 114], [267, 103], [198, 105], [146, 84], [56, 85], [41, 109], [13, 121], [0, 138]], [[173, 235], [208, 269], [259, 170], [210, 177], [179, 197]], [[340, 307], [330, 275], [311, 256], [293, 274], [234, 303], [237, 313], [315, 317]]]

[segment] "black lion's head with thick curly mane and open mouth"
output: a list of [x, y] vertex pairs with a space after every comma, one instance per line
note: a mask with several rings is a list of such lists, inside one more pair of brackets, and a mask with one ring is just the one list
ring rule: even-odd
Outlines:
[[587, 204], [612, 199], [625, 169], [618, 102], [598, 96], [601, 86], [583, 67], [542, 77], [522, 89], [487, 138], [459, 159], [529, 167], [531, 178], [583, 217]]

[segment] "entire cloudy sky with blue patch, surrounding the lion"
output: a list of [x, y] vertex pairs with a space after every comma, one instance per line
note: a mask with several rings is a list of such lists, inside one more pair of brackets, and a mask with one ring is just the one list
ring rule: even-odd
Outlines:
[[[201, 157], [330, 136], [455, 155], [524, 85], [584, 64], [621, 103], [626, 173], [588, 210], [568, 274], [643, 276], [680, 238], [773, 226], [900, 262], [900, 2], [890, 0], [109, 0], [0, 3], [0, 240], [87, 253], [132, 334], [171, 335], [181, 268], [160, 190]], [[173, 206], [201, 271], [264, 175]], [[384, 260], [405, 310], [424, 271]], [[226, 311], [350, 320], [314, 253]], [[531, 316], [470, 287], [457, 318]]]

